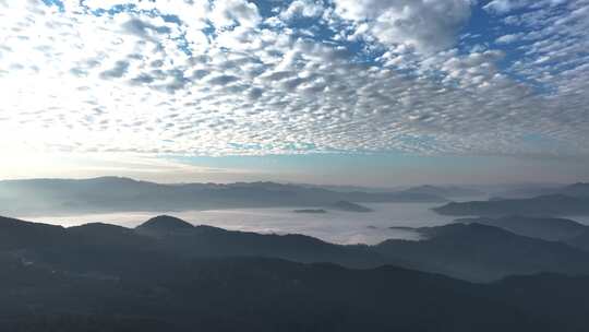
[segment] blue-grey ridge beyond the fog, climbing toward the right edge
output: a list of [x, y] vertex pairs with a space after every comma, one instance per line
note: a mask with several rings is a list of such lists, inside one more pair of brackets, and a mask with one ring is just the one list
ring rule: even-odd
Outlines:
[[435, 208], [445, 215], [461, 216], [569, 216], [589, 215], [589, 185], [576, 183], [552, 192], [519, 199], [494, 198], [488, 201], [450, 202]]

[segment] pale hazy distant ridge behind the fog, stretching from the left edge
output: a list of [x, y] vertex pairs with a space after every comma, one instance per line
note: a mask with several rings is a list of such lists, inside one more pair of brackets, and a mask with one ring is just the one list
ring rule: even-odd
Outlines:
[[0, 181], [0, 211], [12, 215], [329, 206], [338, 201], [362, 203], [446, 200], [425, 192], [344, 192], [275, 182], [160, 185], [118, 177]]

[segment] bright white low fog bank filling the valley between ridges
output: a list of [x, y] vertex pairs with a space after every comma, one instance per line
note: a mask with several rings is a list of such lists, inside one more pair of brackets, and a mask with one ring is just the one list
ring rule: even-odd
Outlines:
[[[455, 217], [437, 215], [435, 203], [362, 203], [368, 213], [329, 210], [327, 213], [294, 213], [299, 208], [237, 209], [183, 212], [123, 212], [68, 216], [24, 217], [39, 223], [74, 226], [86, 223], [109, 223], [134, 227], [158, 214], [170, 214], [194, 225], [211, 225], [232, 230], [256, 233], [304, 234], [336, 244], [377, 244], [389, 238], [417, 239], [410, 230], [393, 226], [434, 226]], [[309, 209], [300, 208], [300, 209]]]

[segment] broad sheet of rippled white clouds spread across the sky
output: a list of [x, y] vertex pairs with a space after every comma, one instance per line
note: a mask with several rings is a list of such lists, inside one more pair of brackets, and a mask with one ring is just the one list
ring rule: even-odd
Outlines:
[[[470, 12], [464, 1], [338, 0], [341, 15], [358, 28], [369, 20], [362, 34], [387, 45], [384, 64], [352, 61], [288, 26], [263, 28], [252, 2], [172, 2], [178, 10], [137, 3], [181, 9], [181, 22], [148, 11], [97, 16], [73, 4], [61, 12], [40, 1], [0, 2], [0, 149], [589, 154], [589, 66], [574, 56], [588, 47], [587, 5], [518, 17], [528, 45], [508, 71], [529, 79], [518, 82], [501, 68], [502, 51], [445, 49]], [[199, 5], [205, 16], [192, 11]], [[450, 9], [455, 15], [440, 16]], [[205, 19], [214, 34], [203, 31]], [[392, 22], [398, 26], [386, 29]], [[438, 51], [416, 55], [414, 47]], [[541, 142], [526, 141], [530, 134]]]

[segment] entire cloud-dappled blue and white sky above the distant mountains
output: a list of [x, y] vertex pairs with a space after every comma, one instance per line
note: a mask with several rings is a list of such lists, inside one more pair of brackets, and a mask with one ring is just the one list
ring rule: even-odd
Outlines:
[[0, 0], [0, 178], [589, 180], [589, 0]]

